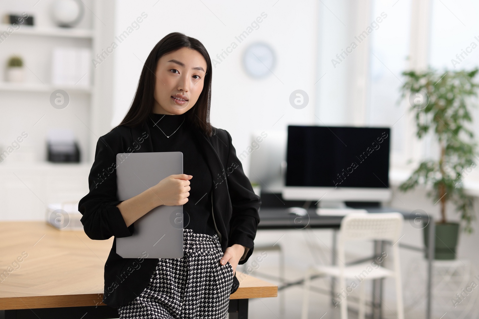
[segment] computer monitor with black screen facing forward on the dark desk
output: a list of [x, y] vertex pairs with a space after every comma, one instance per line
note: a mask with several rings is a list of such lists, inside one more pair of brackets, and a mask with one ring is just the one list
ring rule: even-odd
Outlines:
[[387, 201], [390, 129], [288, 126], [285, 199]]

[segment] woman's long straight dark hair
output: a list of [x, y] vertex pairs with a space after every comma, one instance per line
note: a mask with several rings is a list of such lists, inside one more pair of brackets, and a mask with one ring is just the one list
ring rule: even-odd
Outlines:
[[211, 59], [205, 46], [201, 42], [179, 32], [172, 32], [166, 35], [155, 45], [155, 47], [153, 47], [153, 50], [151, 50], [143, 69], [141, 70], [135, 98], [133, 99], [130, 109], [126, 113], [125, 118], [116, 127], [121, 125], [137, 127], [147, 120], [148, 115], [153, 110], [155, 102], [155, 70], [158, 60], [163, 55], [179, 50], [183, 47], [198, 51], [203, 55], [206, 60], [207, 72], [204, 77], [205, 83], [203, 84], [203, 91], [196, 101], [196, 104], [184, 114], [186, 120], [192, 125], [202, 130], [207, 136], [212, 135], [211, 123], [209, 121], [212, 76]]

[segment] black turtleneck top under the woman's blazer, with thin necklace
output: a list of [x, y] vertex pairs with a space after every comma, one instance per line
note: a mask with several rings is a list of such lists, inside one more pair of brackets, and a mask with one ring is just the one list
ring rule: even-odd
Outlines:
[[193, 176], [188, 201], [183, 205], [183, 228], [213, 236], [216, 233], [211, 213], [213, 182], [204, 155], [195, 143], [191, 124], [184, 114], [150, 113], [147, 120], [153, 151], [182, 152], [183, 174]]

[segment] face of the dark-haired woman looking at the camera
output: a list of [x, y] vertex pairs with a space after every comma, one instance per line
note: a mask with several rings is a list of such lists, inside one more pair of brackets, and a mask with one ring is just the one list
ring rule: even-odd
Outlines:
[[181, 48], [158, 60], [153, 113], [179, 115], [190, 110], [205, 83], [206, 61], [198, 51]]

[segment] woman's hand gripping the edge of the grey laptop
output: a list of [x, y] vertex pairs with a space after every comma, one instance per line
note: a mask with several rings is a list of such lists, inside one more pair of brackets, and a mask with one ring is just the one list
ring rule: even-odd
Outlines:
[[150, 189], [155, 194], [158, 206], [184, 205], [190, 196], [190, 179], [192, 175], [176, 174], [163, 178], [160, 183]]

